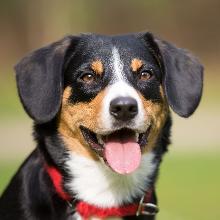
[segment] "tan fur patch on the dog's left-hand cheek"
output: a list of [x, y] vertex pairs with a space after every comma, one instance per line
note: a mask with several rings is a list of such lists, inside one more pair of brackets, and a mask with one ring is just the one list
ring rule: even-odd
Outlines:
[[83, 125], [94, 132], [99, 130], [99, 111], [104, 92], [100, 92], [89, 103], [77, 103], [74, 105], [68, 103], [71, 92], [74, 91], [71, 91], [70, 87], [64, 90], [58, 131], [69, 150], [87, 158], [98, 160], [98, 156], [85, 142], [79, 127]]

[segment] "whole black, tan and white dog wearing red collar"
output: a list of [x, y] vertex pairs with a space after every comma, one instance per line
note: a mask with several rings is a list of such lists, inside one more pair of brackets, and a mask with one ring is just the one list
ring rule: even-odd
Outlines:
[[0, 199], [0, 219], [145, 219], [170, 143], [172, 109], [189, 117], [203, 66], [150, 32], [67, 36], [16, 66], [36, 149]]

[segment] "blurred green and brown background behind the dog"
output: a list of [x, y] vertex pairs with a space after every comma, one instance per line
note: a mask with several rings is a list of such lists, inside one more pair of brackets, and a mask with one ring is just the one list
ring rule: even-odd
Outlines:
[[172, 142], [158, 182], [159, 220], [220, 219], [219, 0], [1, 0], [0, 194], [34, 148], [13, 65], [67, 34], [150, 30], [188, 48], [205, 66], [204, 94], [189, 119], [174, 115]]

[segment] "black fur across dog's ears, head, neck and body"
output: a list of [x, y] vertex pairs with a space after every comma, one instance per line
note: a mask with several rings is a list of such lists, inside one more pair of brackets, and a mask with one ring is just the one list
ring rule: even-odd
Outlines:
[[[177, 114], [188, 117], [196, 109], [202, 93], [201, 64], [185, 50], [159, 40], [151, 33], [110, 37], [92, 34], [68, 36], [34, 51], [22, 59], [15, 69], [21, 101], [35, 121], [37, 149], [3, 192], [0, 198], [1, 220], [72, 219], [70, 213], [73, 209], [55, 192], [44, 165], [47, 163], [59, 169], [64, 181], [69, 178], [63, 166], [67, 157], [66, 147], [57, 131], [62, 92], [66, 86], [71, 86], [74, 89], [70, 98], [72, 104], [89, 102], [111, 84], [112, 72], [107, 64], [113, 46], [121, 52], [127, 81], [146, 99], [160, 102], [159, 86], [162, 84], [168, 103]], [[144, 60], [142, 68], [153, 70], [154, 75], [147, 83], [138, 82], [132, 73], [130, 63], [134, 57]], [[104, 75], [95, 83], [85, 85], [80, 77], [91, 71], [89, 63], [94, 58], [104, 63]], [[157, 169], [151, 177], [152, 187], [162, 156], [167, 151], [170, 128], [169, 116], [154, 148]], [[68, 188], [65, 191], [68, 192]], [[154, 220], [154, 217], [132, 216], [124, 219]]]

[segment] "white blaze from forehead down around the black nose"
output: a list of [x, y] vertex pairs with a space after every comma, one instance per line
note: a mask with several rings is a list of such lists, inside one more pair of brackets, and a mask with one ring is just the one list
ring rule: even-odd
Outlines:
[[144, 121], [145, 111], [142, 101], [137, 91], [132, 87], [125, 77], [123, 70], [124, 64], [120, 59], [119, 50], [116, 47], [112, 49], [112, 57], [110, 67], [113, 73], [113, 84], [107, 87], [106, 95], [103, 100], [101, 110], [101, 127], [103, 131], [111, 131], [114, 129], [114, 117], [109, 112], [110, 103], [117, 97], [131, 97], [137, 101], [138, 114], [133, 119], [134, 129], [145, 131], [147, 129], [146, 121]]

